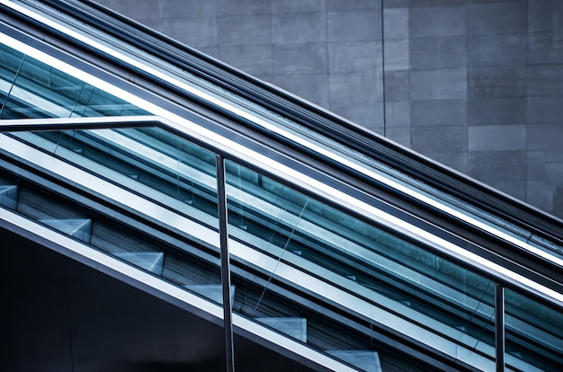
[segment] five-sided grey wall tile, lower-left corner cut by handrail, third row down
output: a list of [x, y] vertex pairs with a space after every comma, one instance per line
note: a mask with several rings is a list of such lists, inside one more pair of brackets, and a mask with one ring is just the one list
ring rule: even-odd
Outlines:
[[271, 75], [273, 72], [270, 45], [220, 47], [219, 59], [250, 75]]

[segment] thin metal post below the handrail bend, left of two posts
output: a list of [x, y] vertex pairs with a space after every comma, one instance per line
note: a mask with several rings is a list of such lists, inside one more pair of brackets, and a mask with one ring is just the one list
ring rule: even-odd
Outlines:
[[223, 288], [223, 321], [225, 331], [225, 358], [227, 372], [235, 371], [235, 353], [233, 344], [233, 309], [230, 301], [230, 266], [228, 254], [227, 192], [225, 181], [225, 159], [216, 155], [217, 198], [219, 208], [219, 245], [221, 249], [221, 285]]

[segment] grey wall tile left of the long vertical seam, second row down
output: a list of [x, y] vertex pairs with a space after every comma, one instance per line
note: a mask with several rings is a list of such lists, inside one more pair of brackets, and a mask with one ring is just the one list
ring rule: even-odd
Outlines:
[[329, 41], [381, 40], [381, 12], [328, 12], [326, 35]]

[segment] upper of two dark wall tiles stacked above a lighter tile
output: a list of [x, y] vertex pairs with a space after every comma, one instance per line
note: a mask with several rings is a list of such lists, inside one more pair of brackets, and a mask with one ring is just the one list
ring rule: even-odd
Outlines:
[[476, 67], [468, 71], [468, 96], [500, 98], [526, 96], [526, 68]]

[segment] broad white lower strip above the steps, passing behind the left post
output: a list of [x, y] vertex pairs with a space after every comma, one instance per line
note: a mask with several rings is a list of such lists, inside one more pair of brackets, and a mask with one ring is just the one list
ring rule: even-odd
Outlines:
[[[154, 203], [149, 202], [147, 199], [143, 199], [139, 195], [123, 190], [120, 186], [115, 185], [112, 182], [103, 181], [91, 173], [76, 169], [75, 166], [67, 164], [62, 160], [51, 156], [45, 156], [42, 152], [40, 152], [40, 150], [27, 146], [16, 139], [0, 134], [0, 141], [3, 143], [3, 149], [5, 152], [21, 157], [22, 159], [26, 159], [38, 168], [42, 168], [44, 170], [56, 169], [59, 177], [66, 179], [67, 182], [82, 185], [83, 188], [88, 189], [88, 192], [92, 194], [111, 195], [114, 202], [116, 204], [122, 203], [121, 205], [124, 208], [135, 210], [147, 218], [152, 217], [156, 219], [158, 223], [169, 226], [174, 230], [189, 231], [193, 238], [206, 244], [215, 246], [219, 245], [218, 232], [201, 226], [191, 219], [178, 216], [176, 213], [167, 208], [157, 206]], [[4, 211], [5, 213], [12, 213], [8, 212], [4, 208], [0, 208], [0, 218], [2, 217]], [[28, 221], [28, 223], [30, 222]], [[353, 296], [353, 294], [347, 291], [335, 288], [335, 283], [327, 282], [326, 278], [323, 278], [323, 276], [311, 276], [307, 272], [299, 270], [298, 268], [284, 262], [280, 262], [277, 259], [267, 256], [263, 252], [258, 252], [238, 241], [230, 240], [229, 249], [233, 256], [238, 257], [242, 261], [247, 261], [261, 270], [273, 272], [277, 278], [289, 281], [292, 285], [296, 286], [296, 288], [302, 288], [306, 292], [315, 293], [318, 297], [322, 297], [328, 302], [332, 302], [338, 306], [349, 309], [354, 314], [361, 314], [365, 318], [371, 319], [374, 322], [389, 326], [389, 328], [405, 334], [407, 337], [421, 341], [435, 350], [441, 350], [451, 357], [463, 360], [477, 368], [482, 370], [489, 370], [493, 368], [493, 365], [491, 365], [491, 359], [484, 358], [472, 350], [473, 348], [476, 348], [477, 350], [492, 356], [494, 352], [490, 345], [487, 345], [484, 342], [476, 342], [475, 339], [469, 335], [439, 323], [424, 314], [411, 312], [409, 314], [411, 318], [405, 319], [397, 315], [402, 314], [400, 311], [397, 312], [397, 314], [392, 314], [386, 309], [374, 306], [361, 298]], [[384, 302], [382, 298], [380, 298], [380, 300], [380, 302]], [[404, 306], [403, 308], [404, 310], [407, 310]], [[436, 330], [436, 332], [425, 329], [413, 322], [429, 325], [430, 328]], [[460, 343], [449, 341], [449, 339], [442, 337], [442, 335], [448, 334], [448, 332], [455, 332], [455, 334], [450, 333], [450, 338], [451, 340], [456, 340]]]

